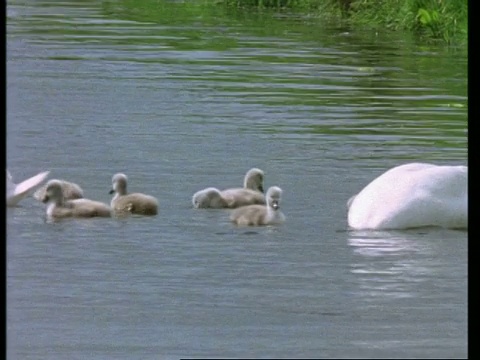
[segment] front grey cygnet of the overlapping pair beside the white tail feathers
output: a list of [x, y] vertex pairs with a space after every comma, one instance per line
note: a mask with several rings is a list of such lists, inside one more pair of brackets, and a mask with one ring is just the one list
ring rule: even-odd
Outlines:
[[49, 219], [111, 216], [110, 207], [100, 201], [89, 199], [65, 200], [62, 182], [56, 179], [47, 183], [42, 202], [47, 204], [47, 218]]

